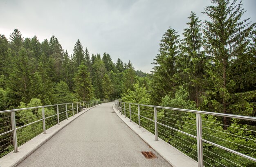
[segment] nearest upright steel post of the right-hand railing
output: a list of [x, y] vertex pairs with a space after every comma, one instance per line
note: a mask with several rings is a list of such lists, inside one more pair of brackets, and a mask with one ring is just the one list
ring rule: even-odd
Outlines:
[[203, 142], [202, 142], [202, 118], [200, 113], [196, 113], [196, 132], [198, 144], [198, 167], [204, 166]]

